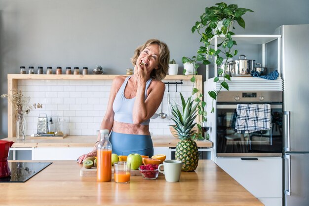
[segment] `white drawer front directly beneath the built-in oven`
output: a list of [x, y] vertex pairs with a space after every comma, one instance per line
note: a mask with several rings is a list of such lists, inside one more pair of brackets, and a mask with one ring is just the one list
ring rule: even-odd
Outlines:
[[[282, 201], [282, 158], [216, 158], [215, 163], [256, 198]], [[275, 200], [277, 199], [278, 200]], [[281, 206], [281, 204], [280, 204]]]

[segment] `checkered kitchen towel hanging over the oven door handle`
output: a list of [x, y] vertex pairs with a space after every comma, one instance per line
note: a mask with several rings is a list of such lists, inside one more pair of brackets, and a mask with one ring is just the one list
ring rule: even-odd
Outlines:
[[252, 133], [270, 130], [270, 104], [237, 104], [235, 130]]

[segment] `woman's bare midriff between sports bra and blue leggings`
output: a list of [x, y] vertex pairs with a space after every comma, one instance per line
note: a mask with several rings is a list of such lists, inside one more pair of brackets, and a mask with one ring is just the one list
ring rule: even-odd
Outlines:
[[136, 125], [114, 121], [113, 131], [133, 135], [150, 135], [149, 125]]

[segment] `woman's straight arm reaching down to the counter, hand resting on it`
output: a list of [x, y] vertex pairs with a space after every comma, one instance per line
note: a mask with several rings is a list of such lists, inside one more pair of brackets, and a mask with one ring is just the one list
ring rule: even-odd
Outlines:
[[[113, 103], [116, 97], [116, 94], [121, 86], [121, 84], [123, 83], [125, 77], [122, 76], [117, 76], [114, 80], [113, 80], [113, 84], [112, 84], [112, 88], [111, 88], [111, 93], [110, 93], [110, 97], [109, 97], [109, 102], [107, 104], [107, 109], [106, 109], [106, 113], [104, 115], [104, 118], [101, 122], [100, 125], [100, 130], [103, 129], [107, 129], [109, 130], [109, 132], [112, 131], [113, 128], [113, 124], [114, 124], [114, 110], [113, 110]], [[98, 134], [97, 137], [97, 141], [93, 147], [93, 150], [87, 154], [83, 154], [81, 155], [77, 161], [79, 164], [81, 164], [83, 162], [84, 159], [86, 159], [87, 157], [93, 157], [93, 156], [97, 156], [97, 145], [100, 141], [100, 133]]]

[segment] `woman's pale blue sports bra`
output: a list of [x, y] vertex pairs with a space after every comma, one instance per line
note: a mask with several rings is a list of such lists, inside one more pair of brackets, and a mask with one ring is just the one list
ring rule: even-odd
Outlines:
[[[114, 114], [115, 121], [133, 124], [132, 112], [133, 112], [135, 97], [132, 99], [127, 99], [124, 97], [124, 89], [130, 77], [131, 76], [128, 76], [122, 83], [121, 87], [119, 88], [119, 91], [117, 92], [114, 103], [113, 103], [113, 110], [115, 113]], [[146, 82], [145, 100], [147, 98], [147, 89], [151, 81], [152, 81], [152, 78], [150, 78]], [[149, 125], [149, 122], [150, 122], [150, 119], [144, 121], [143, 123], [141, 123], [141, 125]]]

